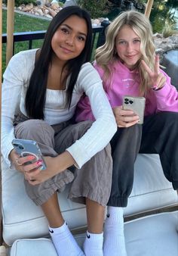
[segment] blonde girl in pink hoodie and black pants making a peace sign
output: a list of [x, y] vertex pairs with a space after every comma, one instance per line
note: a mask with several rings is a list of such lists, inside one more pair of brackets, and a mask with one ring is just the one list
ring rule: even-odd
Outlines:
[[[137, 11], [126, 11], [112, 21], [105, 44], [97, 49], [94, 67], [103, 80], [118, 124], [111, 140], [112, 192], [103, 251], [104, 256], [125, 256], [123, 208], [133, 187], [138, 153], [159, 154], [164, 175], [173, 189], [178, 189], [178, 93], [159, 67], [152, 26]], [[137, 113], [123, 109], [124, 95], [146, 98], [143, 125], [138, 123]], [[76, 120], [94, 120], [86, 95], [78, 103]]]

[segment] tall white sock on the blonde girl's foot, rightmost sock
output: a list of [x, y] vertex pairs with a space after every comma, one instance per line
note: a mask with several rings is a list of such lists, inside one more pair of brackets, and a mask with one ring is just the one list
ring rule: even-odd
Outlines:
[[104, 256], [127, 256], [124, 241], [123, 208], [108, 207], [104, 225]]

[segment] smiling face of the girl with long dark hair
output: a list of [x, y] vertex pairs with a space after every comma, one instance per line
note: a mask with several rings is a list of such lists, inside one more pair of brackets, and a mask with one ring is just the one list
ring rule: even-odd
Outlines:
[[63, 64], [78, 57], [84, 49], [87, 39], [87, 23], [76, 15], [64, 20], [60, 24], [51, 40], [51, 47], [55, 57]]

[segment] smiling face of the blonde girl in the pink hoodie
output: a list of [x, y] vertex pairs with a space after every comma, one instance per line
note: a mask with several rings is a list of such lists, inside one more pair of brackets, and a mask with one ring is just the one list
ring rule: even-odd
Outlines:
[[121, 27], [115, 38], [115, 48], [124, 65], [132, 70], [140, 60], [140, 37], [127, 25]]

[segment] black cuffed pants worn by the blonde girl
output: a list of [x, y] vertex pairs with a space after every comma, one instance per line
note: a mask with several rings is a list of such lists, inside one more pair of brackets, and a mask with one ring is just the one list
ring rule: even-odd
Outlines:
[[143, 126], [118, 128], [111, 145], [113, 171], [109, 206], [127, 206], [138, 153], [158, 154], [164, 175], [173, 189], [178, 189], [178, 113], [152, 114], [145, 117]]

